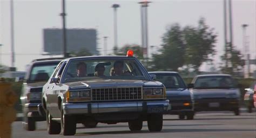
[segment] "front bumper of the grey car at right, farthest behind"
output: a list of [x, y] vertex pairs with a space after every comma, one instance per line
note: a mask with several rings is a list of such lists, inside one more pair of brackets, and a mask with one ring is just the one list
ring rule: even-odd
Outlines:
[[238, 99], [196, 99], [194, 102], [195, 111], [233, 111], [239, 108]]

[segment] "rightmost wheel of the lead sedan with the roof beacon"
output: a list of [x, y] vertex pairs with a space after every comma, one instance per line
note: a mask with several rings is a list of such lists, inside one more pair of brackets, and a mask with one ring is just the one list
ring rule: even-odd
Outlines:
[[160, 132], [163, 128], [163, 114], [147, 115], [147, 128], [150, 132]]

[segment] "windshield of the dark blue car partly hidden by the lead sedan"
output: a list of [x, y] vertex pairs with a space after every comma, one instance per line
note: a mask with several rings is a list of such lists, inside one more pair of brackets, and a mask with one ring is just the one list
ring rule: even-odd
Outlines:
[[186, 88], [183, 79], [176, 73], [156, 73], [156, 75], [156, 80], [162, 82], [166, 88]]

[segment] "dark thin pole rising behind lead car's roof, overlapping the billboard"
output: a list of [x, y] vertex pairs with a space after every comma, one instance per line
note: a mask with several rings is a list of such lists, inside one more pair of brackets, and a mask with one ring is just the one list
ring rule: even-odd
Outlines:
[[62, 0], [62, 13], [60, 13], [60, 16], [62, 16], [62, 24], [63, 24], [63, 57], [67, 57], [66, 54], [66, 13], [65, 13], [65, 0]]

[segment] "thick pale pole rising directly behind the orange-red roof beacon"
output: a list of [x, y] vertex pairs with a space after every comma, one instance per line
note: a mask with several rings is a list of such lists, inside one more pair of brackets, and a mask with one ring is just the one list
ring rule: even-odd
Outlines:
[[147, 27], [147, 7], [149, 6], [149, 1], [139, 2], [140, 4], [140, 12], [141, 12], [141, 20], [142, 20], [142, 47], [143, 47], [143, 58], [144, 60], [149, 58], [148, 56], [148, 47], [149, 47], [149, 40], [148, 40], [148, 27]]

